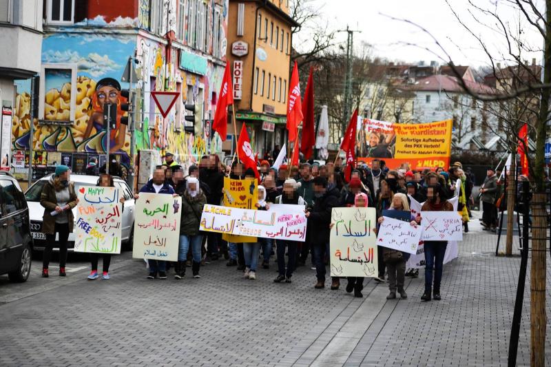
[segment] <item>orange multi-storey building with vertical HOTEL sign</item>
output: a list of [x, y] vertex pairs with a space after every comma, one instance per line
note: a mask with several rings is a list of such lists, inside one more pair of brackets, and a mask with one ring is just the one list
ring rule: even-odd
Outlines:
[[[295, 21], [289, 17], [289, 0], [231, 0], [228, 24], [227, 59], [233, 73], [237, 129], [247, 124], [251, 144], [262, 156], [287, 138]], [[231, 149], [231, 140], [224, 149]]]

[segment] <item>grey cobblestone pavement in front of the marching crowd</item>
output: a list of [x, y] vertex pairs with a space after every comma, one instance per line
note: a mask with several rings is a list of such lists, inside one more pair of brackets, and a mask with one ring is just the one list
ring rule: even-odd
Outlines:
[[[387, 301], [373, 280], [363, 299], [344, 286], [315, 290], [307, 266], [291, 284], [273, 283], [273, 263], [245, 280], [222, 261], [200, 280], [188, 269], [181, 281], [151, 281], [124, 253], [111, 280], [90, 282], [83, 261], [48, 279], [34, 261], [25, 284], [0, 277], [0, 366], [503, 366], [520, 258], [496, 258], [496, 235], [470, 227], [444, 266], [442, 300], [428, 303], [423, 271], [406, 278], [407, 300]], [[519, 365], [530, 362], [529, 290], [527, 279]]]

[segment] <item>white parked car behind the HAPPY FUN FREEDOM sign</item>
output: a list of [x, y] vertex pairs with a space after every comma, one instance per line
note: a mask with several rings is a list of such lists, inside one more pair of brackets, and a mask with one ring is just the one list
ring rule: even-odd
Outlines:
[[[44, 208], [40, 205], [40, 195], [45, 183], [50, 180], [50, 176], [45, 176], [34, 182], [31, 187], [25, 191], [30, 213], [30, 231], [34, 238], [34, 249], [43, 250], [46, 240], [46, 235], [42, 233], [42, 216]], [[96, 186], [98, 176], [71, 175], [71, 181], [74, 182], [75, 191], [79, 191], [83, 186]], [[132, 238], [134, 235], [134, 195], [127, 183], [121, 178], [114, 178], [115, 187], [121, 191], [121, 195], [125, 198], [125, 209], [123, 211], [123, 247], [132, 248]], [[73, 209], [74, 218], [76, 218], [76, 208]], [[56, 235], [57, 240], [57, 235]], [[74, 233], [69, 233], [70, 251], [74, 248]]]

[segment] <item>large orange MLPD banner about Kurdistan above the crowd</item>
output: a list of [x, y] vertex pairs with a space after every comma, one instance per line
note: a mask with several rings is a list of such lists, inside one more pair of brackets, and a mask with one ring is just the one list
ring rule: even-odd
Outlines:
[[383, 159], [391, 169], [409, 163], [411, 169], [450, 165], [452, 120], [422, 124], [398, 124], [364, 119], [359, 129], [360, 162]]

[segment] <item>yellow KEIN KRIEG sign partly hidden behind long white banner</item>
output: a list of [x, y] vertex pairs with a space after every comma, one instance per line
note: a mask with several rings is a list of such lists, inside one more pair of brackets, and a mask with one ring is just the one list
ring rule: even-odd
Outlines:
[[[240, 209], [256, 209], [258, 202], [258, 181], [253, 178], [232, 180], [224, 178], [224, 206]], [[245, 235], [222, 235], [227, 242], [256, 242], [256, 237]]]

